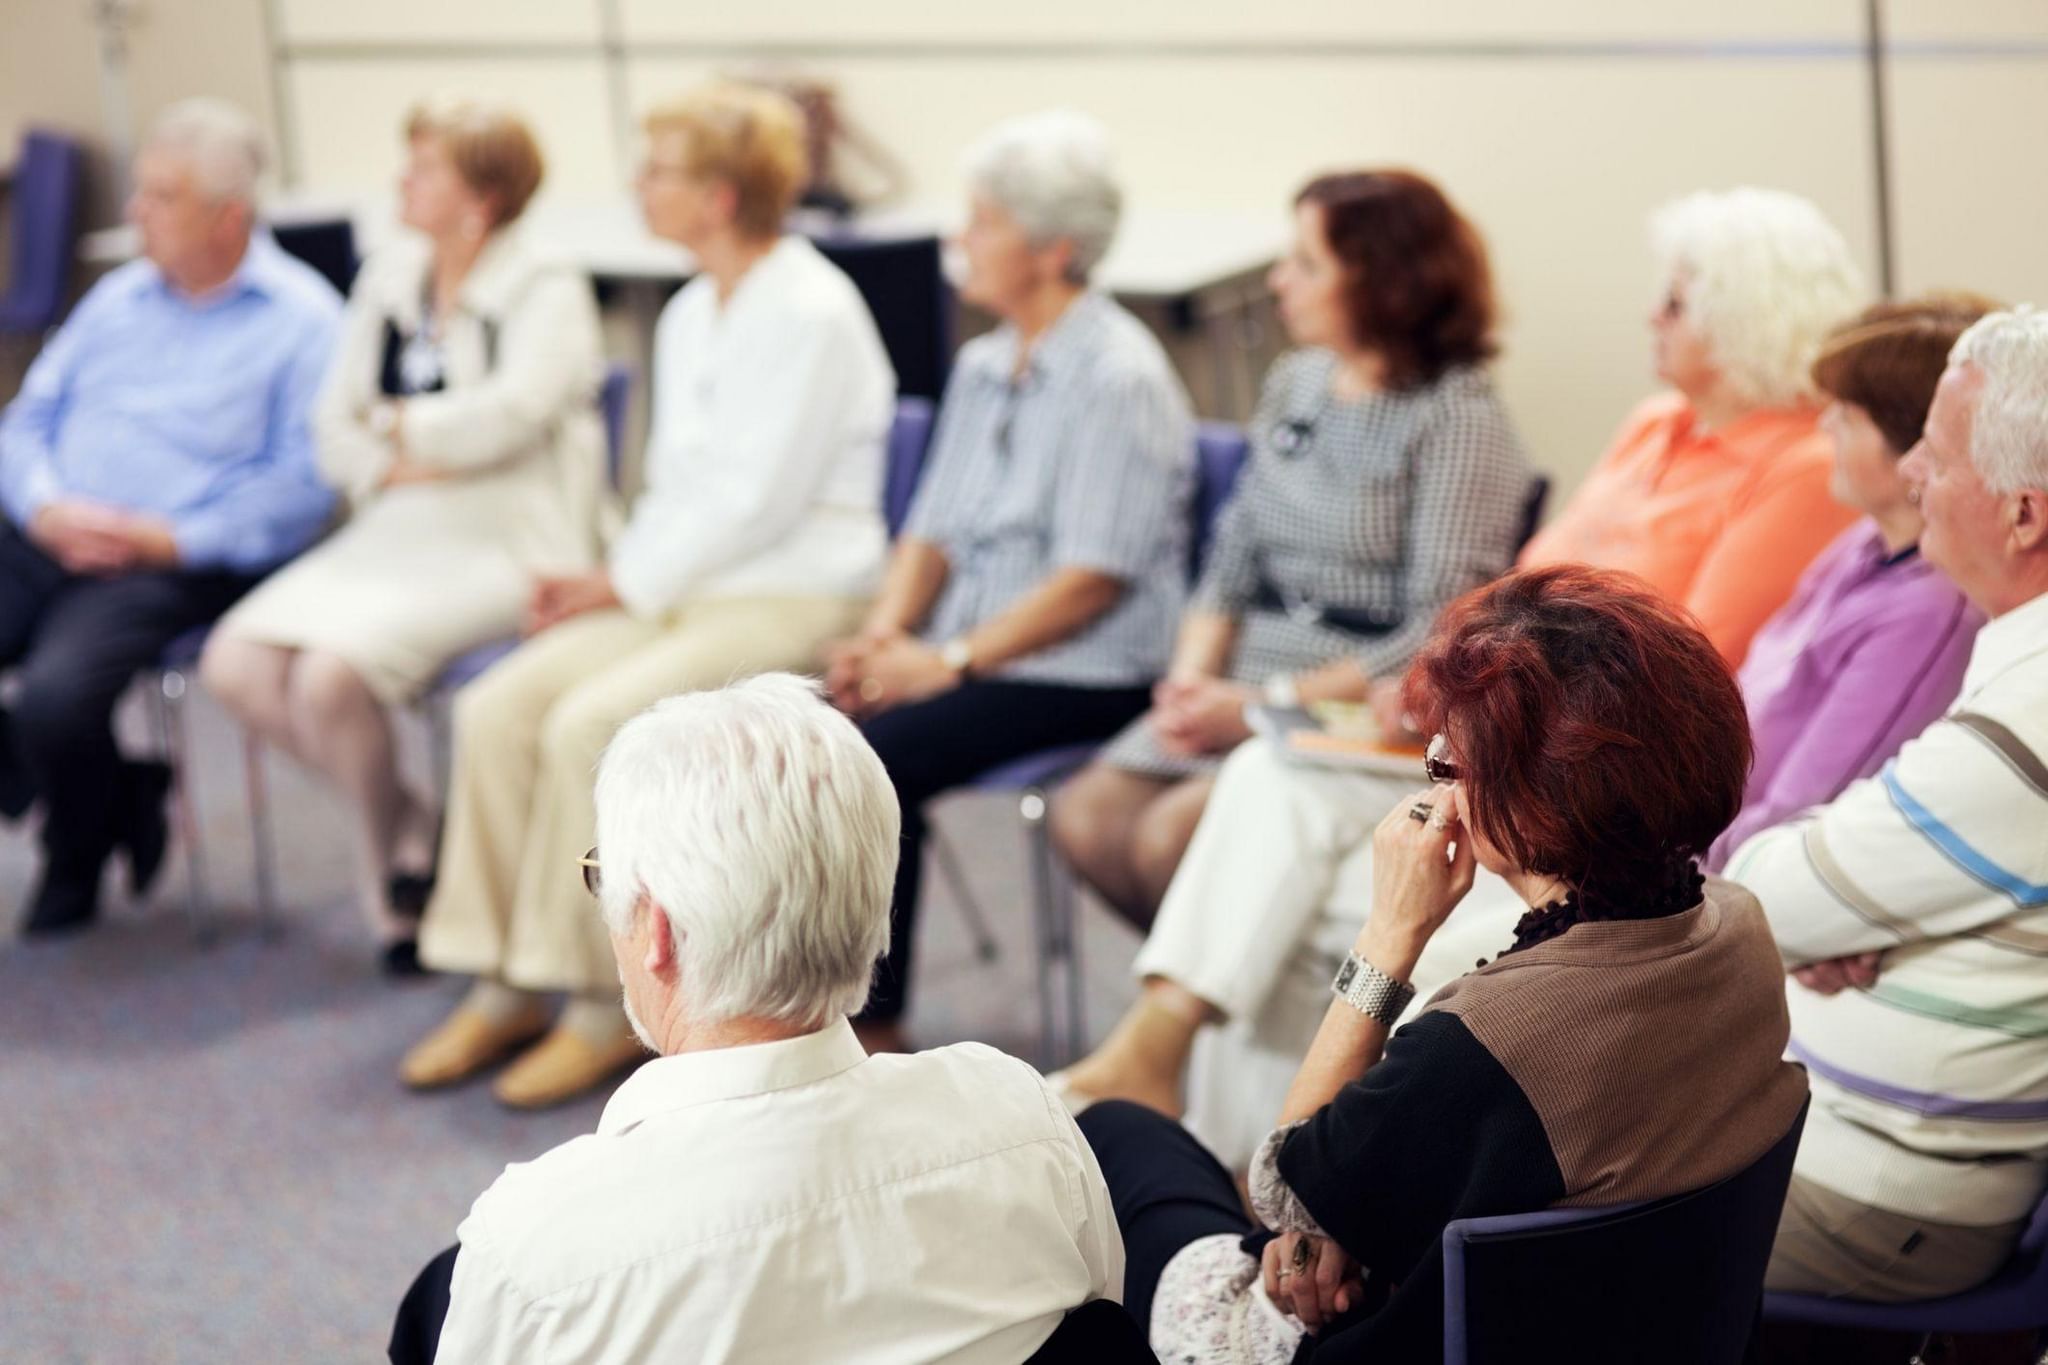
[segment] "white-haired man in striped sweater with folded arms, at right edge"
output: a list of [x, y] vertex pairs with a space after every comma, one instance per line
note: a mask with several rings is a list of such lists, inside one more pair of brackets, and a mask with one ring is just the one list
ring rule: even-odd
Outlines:
[[1726, 870], [1812, 1076], [1767, 1283], [1862, 1300], [1982, 1283], [2048, 1185], [2048, 313], [1956, 342], [1903, 469], [1921, 551], [1993, 618], [1962, 696]]

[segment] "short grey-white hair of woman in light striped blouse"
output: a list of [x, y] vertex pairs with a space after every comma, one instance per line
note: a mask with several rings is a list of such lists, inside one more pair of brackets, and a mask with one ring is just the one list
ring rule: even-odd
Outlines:
[[1067, 108], [1006, 119], [983, 133], [967, 153], [967, 184], [1014, 217], [1032, 246], [1071, 241], [1067, 276], [1075, 284], [1102, 264], [1124, 205], [1110, 135]]

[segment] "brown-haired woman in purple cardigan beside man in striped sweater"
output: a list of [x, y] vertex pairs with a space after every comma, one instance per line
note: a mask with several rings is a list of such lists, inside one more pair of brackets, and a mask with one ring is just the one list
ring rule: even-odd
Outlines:
[[1815, 360], [1833, 399], [1821, 417], [1835, 440], [1833, 493], [1868, 516], [1812, 561], [1749, 647], [1739, 677], [1757, 761], [1708, 870], [1878, 772], [1956, 698], [1985, 618], [1919, 557], [1921, 514], [1898, 460], [1921, 438], [1956, 338], [1993, 307], [1970, 295], [1878, 303]]

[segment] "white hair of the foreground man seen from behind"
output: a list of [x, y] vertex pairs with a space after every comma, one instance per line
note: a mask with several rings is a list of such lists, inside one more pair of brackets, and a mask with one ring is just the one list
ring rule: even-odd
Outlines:
[[668, 915], [698, 1023], [856, 1013], [901, 833], [881, 757], [791, 673], [655, 702], [598, 763], [604, 919], [623, 933], [641, 896]]

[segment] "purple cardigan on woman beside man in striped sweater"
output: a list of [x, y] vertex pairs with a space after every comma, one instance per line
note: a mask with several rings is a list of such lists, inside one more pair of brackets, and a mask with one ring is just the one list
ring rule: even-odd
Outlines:
[[1870, 520], [1821, 551], [1737, 675], [1757, 765], [1706, 855], [1841, 794], [1927, 729], [1962, 688], [1985, 618], [1919, 551], [1886, 557]]

